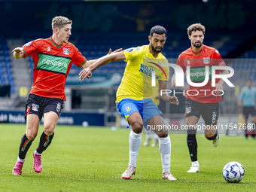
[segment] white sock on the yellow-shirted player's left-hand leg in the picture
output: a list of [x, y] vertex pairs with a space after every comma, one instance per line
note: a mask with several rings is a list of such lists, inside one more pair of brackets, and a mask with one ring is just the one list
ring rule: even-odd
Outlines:
[[139, 154], [139, 147], [142, 144], [142, 133], [134, 133], [133, 130], [130, 132], [130, 158], [129, 166], [136, 167], [136, 160]]

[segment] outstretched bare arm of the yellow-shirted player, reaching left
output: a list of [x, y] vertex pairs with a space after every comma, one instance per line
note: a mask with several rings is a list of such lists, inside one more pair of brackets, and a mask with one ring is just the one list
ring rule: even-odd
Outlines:
[[93, 65], [90, 65], [86, 69], [83, 69], [83, 71], [79, 73], [79, 79], [81, 81], [86, 78], [91, 78], [93, 71], [97, 69], [99, 66], [103, 66], [108, 62], [120, 61], [124, 59], [126, 59], [126, 57], [123, 51], [118, 53], [112, 53], [107, 56], [102, 56], [101, 58], [97, 59], [97, 61], [94, 62]]

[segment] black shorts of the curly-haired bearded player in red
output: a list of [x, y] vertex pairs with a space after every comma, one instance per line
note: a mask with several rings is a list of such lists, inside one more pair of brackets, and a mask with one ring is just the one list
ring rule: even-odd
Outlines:
[[202, 115], [206, 125], [216, 125], [218, 121], [218, 102], [202, 103], [191, 99], [185, 102], [185, 117], [196, 116], [200, 118]]

